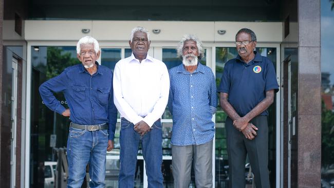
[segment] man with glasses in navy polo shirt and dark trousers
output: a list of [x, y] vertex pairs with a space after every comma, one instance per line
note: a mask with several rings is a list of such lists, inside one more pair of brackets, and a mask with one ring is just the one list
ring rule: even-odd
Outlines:
[[245, 187], [248, 154], [256, 188], [270, 187], [267, 108], [279, 90], [272, 62], [255, 51], [256, 35], [247, 28], [235, 36], [238, 55], [224, 67], [220, 105], [227, 113], [230, 187]]

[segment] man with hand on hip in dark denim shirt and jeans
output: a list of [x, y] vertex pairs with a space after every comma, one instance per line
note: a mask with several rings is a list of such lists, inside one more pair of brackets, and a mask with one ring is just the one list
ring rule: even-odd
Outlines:
[[[40, 86], [44, 104], [71, 120], [67, 139], [67, 187], [81, 187], [89, 162], [90, 187], [104, 187], [106, 151], [114, 148], [117, 109], [113, 72], [96, 62], [99, 43], [85, 36], [77, 44], [81, 64], [67, 67]], [[69, 109], [52, 92], [63, 92]]]

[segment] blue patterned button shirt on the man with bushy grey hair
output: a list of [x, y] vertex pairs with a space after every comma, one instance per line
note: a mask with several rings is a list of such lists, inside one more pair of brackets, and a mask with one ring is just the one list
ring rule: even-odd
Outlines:
[[212, 70], [200, 63], [190, 73], [183, 64], [170, 69], [168, 107], [173, 115], [173, 145], [199, 145], [213, 139], [212, 115], [217, 107], [217, 87]]

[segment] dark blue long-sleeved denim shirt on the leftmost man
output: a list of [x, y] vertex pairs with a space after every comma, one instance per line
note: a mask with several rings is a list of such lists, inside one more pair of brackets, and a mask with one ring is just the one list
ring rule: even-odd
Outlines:
[[117, 109], [113, 97], [113, 72], [98, 65], [97, 72], [90, 75], [80, 63], [67, 67], [59, 76], [40, 86], [44, 104], [62, 114], [61, 105], [52, 92], [63, 92], [70, 109], [69, 119], [81, 125], [108, 124], [108, 139], [114, 140]]

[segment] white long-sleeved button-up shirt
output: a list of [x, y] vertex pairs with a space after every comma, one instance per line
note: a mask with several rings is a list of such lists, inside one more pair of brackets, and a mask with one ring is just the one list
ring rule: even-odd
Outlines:
[[126, 120], [144, 121], [150, 127], [161, 118], [170, 89], [166, 65], [146, 55], [141, 63], [134, 54], [117, 62], [114, 69], [114, 103]]

